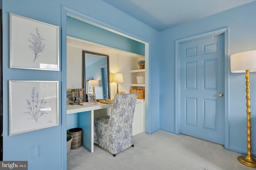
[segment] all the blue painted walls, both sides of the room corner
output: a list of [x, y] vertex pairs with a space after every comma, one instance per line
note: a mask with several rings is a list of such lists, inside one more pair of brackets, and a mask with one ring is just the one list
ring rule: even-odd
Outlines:
[[[66, 104], [59, 104], [60, 125], [38, 131], [9, 136], [8, 80], [58, 80], [59, 94], [65, 94], [66, 54], [62, 55], [61, 26], [62, 5], [78, 12], [101, 25], [141, 39], [150, 44], [149, 51], [149, 111], [148, 126], [152, 133], [160, 128], [175, 132], [175, 41], [178, 39], [229, 27], [229, 53], [255, 50], [256, 48], [256, 2], [221, 12], [162, 31], [148, 27], [134, 18], [100, 0], [3, 0], [3, 98], [4, 98], [4, 160], [28, 160], [29, 169], [66, 169], [65, 134], [62, 129], [74, 125], [66, 124]], [[40, 8], [39, 8], [40, 7]], [[9, 68], [9, 13], [22, 15], [60, 27], [60, 68], [59, 72]], [[65, 34], [65, 33], [64, 33]], [[159, 36], [160, 35], [160, 36]], [[161, 41], [159, 41], [159, 39]], [[160, 43], [159, 43], [160, 42]], [[158, 50], [160, 44], [160, 50]], [[160, 67], [161, 65], [161, 67]], [[159, 75], [160, 82], [159, 85]], [[256, 153], [256, 73], [251, 73], [252, 111], [252, 152]], [[229, 149], [246, 152], [246, 106], [244, 74], [230, 73], [229, 79]], [[64, 85], [65, 87], [65, 85]], [[161, 90], [159, 90], [161, 89]], [[159, 96], [160, 94], [160, 96]], [[65, 95], [63, 95], [65, 96]], [[160, 100], [160, 101], [159, 101]], [[60, 100], [61, 101], [61, 100]], [[159, 112], [161, 113], [159, 115]], [[159, 120], [160, 117], [160, 120]], [[70, 117], [76, 119], [76, 117]], [[64, 137], [63, 137], [64, 136]], [[29, 159], [29, 149], [38, 146], [38, 157]], [[47, 162], [47, 163], [46, 163]]]

